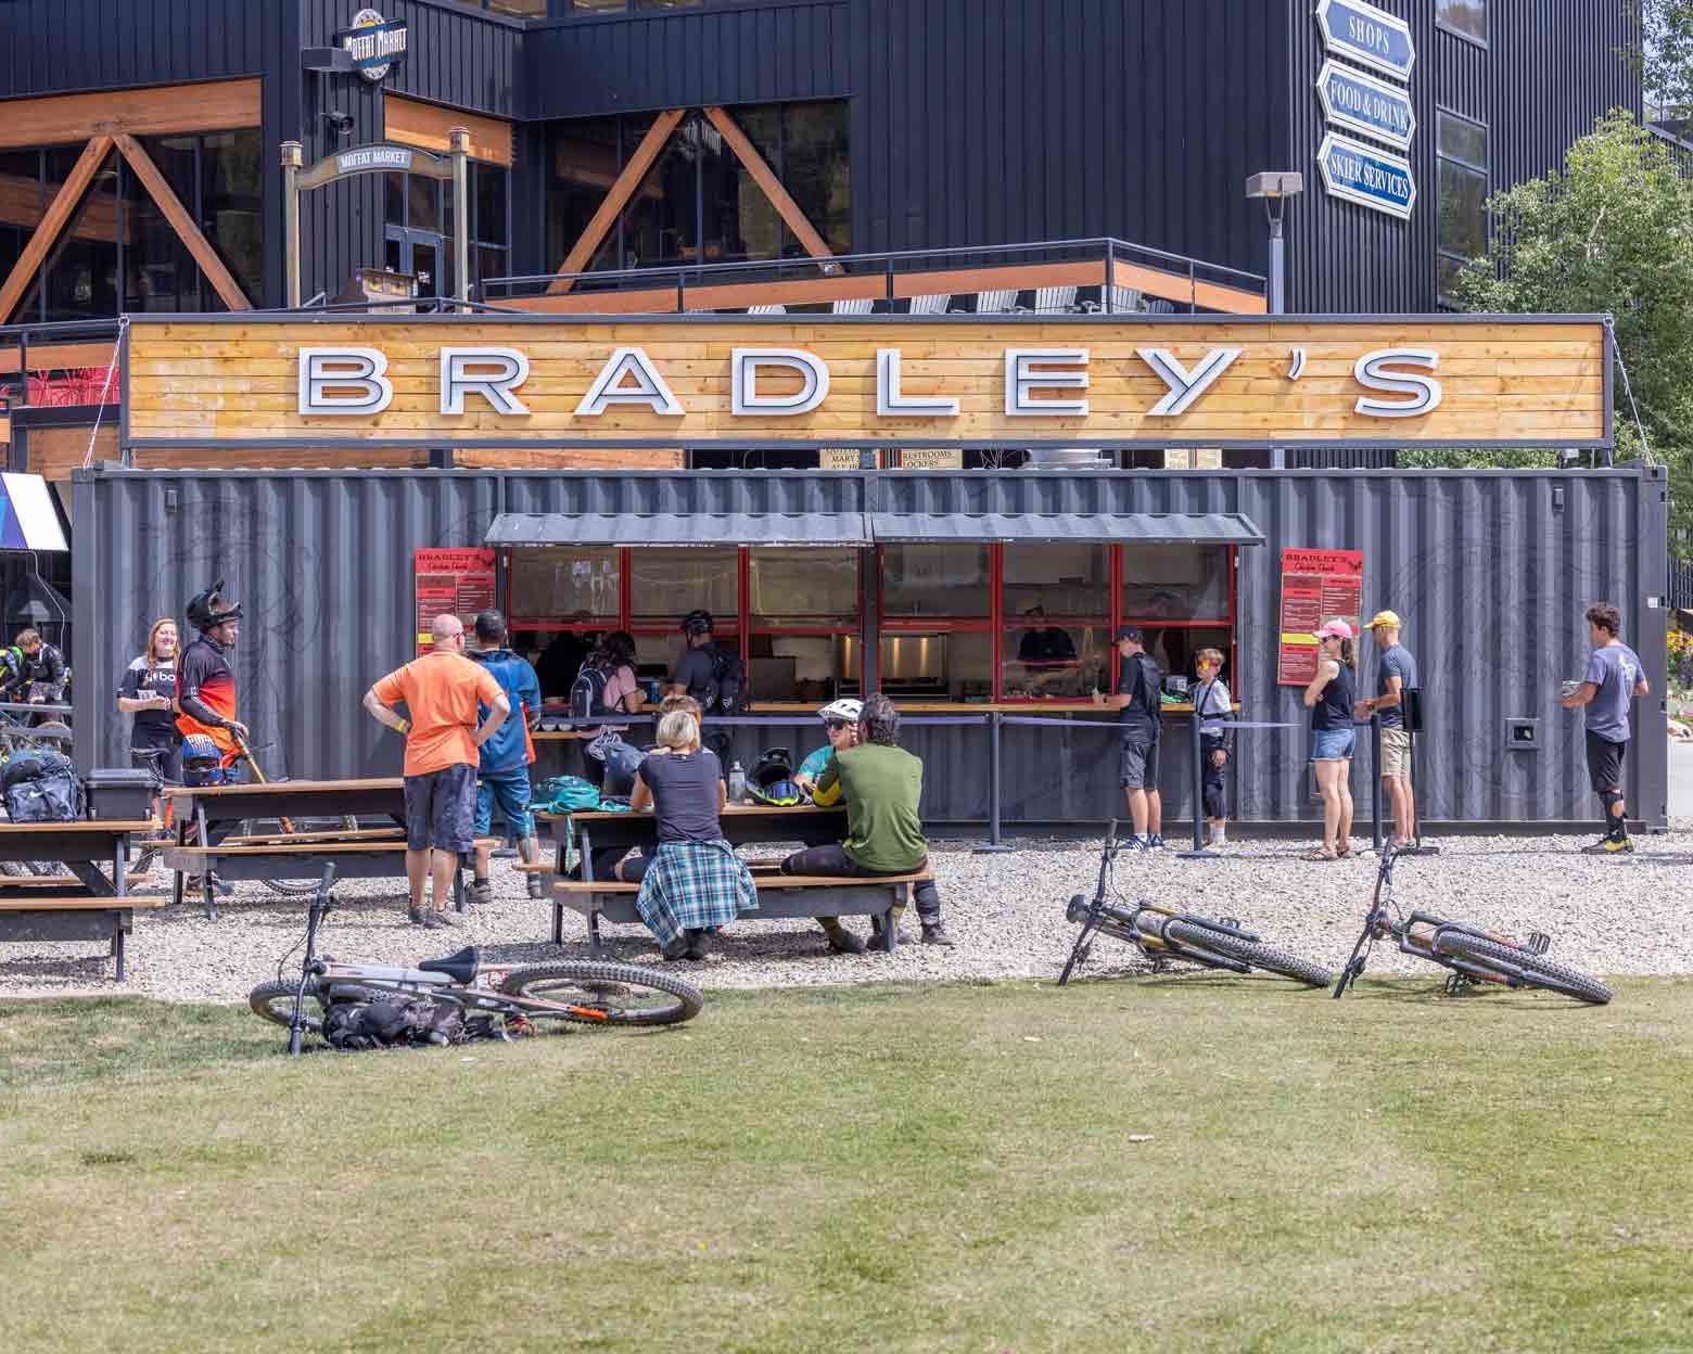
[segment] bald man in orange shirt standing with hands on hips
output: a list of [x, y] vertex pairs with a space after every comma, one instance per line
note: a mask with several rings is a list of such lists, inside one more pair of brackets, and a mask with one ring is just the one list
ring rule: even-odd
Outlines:
[[[474, 846], [476, 765], [481, 746], [511, 713], [499, 682], [464, 657], [464, 626], [457, 616], [430, 623], [433, 650], [394, 669], [364, 692], [364, 707], [379, 724], [406, 735], [406, 880], [411, 921], [457, 926], [447, 911], [447, 890], [459, 856]], [[393, 713], [406, 704], [410, 723]], [[477, 726], [477, 701], [488, 719]], [[423, 911], [423, 880], [435, 880], [435, 909]]]

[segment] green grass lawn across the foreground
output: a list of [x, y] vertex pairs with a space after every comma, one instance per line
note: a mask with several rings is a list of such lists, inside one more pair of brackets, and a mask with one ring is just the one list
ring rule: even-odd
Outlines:
[[0, 1347], [1693, 1347], [1693, 980], [713, 995], [281, 1056], [0, 1005]]

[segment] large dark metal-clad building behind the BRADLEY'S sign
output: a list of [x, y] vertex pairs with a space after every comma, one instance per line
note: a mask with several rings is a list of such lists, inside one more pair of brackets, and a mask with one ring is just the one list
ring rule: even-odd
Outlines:
[[[1593, 0], [1317, 7], [1332, 10], [1331, 22], [1403, 20], [1415, 52], [1403, 78], [1359, 59], [1365, 42], [1326, 52], [1310, 0], [386, 0], [383, 15], [405, 20], [408, 41], [383, 80], [306, 69], [323, 64], [322, 49], [359, 8], [10, 0], [0, 5], [0, 125], [44, 127], [36, 149], [74, 146], [80, 132], [54, 140], [52, 120], [39, 122], [29, 105], [71, 91], [259, 80], [256, 201], [220, 205], [200, 225], [229, 252], [235, 230], [220, 215], [256, 213], [262, 266], [249, 300], [261, 306], [283, 301], [278, 146], [303, 142], [310, 162], [393, 135], [389, 100], [401, 98], [508, 129], [503, 173], [477, 188], [483, 279], [559, 269], [596, 196], [664, 110], [689, 120], [637, 195], [631, 212], [647, 217], [620, 223], [621, 244], [591, 250], [587, 266], [794, 254], [792, 239], [760, 217], [767, 210], [745, 176], [716, 164], [721, 147], [696, 115], [723, 107], [836, 254], [1116, 237], [1261, 274], [1263, 212], [1243, 183], [1260, 169], [1293, 169], [1305, 193], [1288, 215], [1288, 308], [1431, 311], [1439, 261], [1485, 244], [1486, 191], [1556, 164], [1608, 108], [1641, 112], [1619, 54], [1630, 39], [1625, 7]], [[1326, 59], [1414, 110], [1407, 220], [1326, 191], [1319, 149], [1336, 130], [1315, 91]], [[802, 154], [782, 149], [797, 134], [780, 130], [780, 108], [802, 110]], [[3, 149], [29, 149], [19, 135], [0, 132]], [[687, 190], [698, 201], [679, 201], [684, 176], [698, 176]], [[405, 235], [438, 235], [438, 205], [405, 196], [406, 186], [396, 193], [379, 176], [310, 195], [303, 294], [334, 294], [354, 269], [384, 262], [438, 276], [435, 256], [416, 254]], [[25, 210], [10, 235], [0, 230], [0, 276], [34, 220], [39, 210]], [[176, 264], [144, 266], [157, 274]], [[24, 306], [0, 323], [100, 313], [107, 289], [78, 283], [42, 294], [34, 315], [19, 298]], [[119, 308], [135, 306], [105, 313]]]

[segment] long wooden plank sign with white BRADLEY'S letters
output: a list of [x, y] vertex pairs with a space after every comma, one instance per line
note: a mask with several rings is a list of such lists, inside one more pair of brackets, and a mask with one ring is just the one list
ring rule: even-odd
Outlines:
[[1608, 440], [1598, 320], [151, 320], [132, 445]]

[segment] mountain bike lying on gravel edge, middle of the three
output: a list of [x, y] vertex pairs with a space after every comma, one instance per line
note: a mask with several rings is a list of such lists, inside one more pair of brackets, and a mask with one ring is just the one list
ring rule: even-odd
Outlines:
[[1192, 912], [1177, 912], [1170, 907], [1141, 899], [1129, 904], [1121, 890], [1112, 883], [1111, 867], [1117, 853], [1126, 851], [1129, 841], [1117, 841], [1117, 821], [1111, 821], [1106, 833], [1106, 850], [1099, 858], [1099, 883], [1094, 889], [1094, 900], [1082, 894], [1070, 899], [1065, 917], [1082, 924], [1082, 934], [1075, 938], [1075, 948], [1058, 975], [1063, 987], [1080, 968], [1094, 948], [1095, 934], [1116, 936], [1136, 946], [1153, 961], [1153, 971], [1163, 971], [1170, 960], [1197, 963], [1204, 968], [1226, 968], [1231, 973], [1251, 973], [1255, 968], [1266, 968], [1287, 978], [1307, 983], [1309, 987], [1327, 987], [1334, 975], [1321, 965], [1283, 955], [1263, 944], [1256, 934], [1241, 927], [1233, 917], [1212, 921]]

